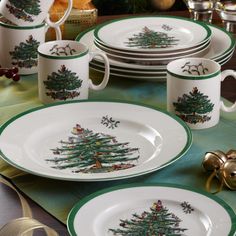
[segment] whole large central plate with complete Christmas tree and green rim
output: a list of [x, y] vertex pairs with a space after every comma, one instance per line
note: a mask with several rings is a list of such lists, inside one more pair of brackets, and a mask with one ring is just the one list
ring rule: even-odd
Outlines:
[[42, 106], [0, 129], [0, 155], [6, 162], [35, 175], [71, 181], [150, 173], [175, 162], [191, 144], [190, 129], [176, 116], [115, 101]]

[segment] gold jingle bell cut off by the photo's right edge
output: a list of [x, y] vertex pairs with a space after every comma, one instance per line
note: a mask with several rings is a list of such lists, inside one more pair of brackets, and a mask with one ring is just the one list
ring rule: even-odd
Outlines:
[[225, 162], [220, 174], [220, 177], [224, 179], [226, 186], [232, 190], [236, 190], [236, 159]]

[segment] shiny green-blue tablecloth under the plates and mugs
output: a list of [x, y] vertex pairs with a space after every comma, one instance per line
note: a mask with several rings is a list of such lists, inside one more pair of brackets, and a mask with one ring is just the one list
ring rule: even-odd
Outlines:
[[[90, 98], [135, 101], [165, 109], [166, 84], [112, 77], [105, 90], [91, 92]], [[38, 100], [37, 75], [22, 76], [19, 83], [0, 79], [0, 124], [13, 115], [41, 105]], [[162, 170], [141, 177], [96, 183], [59, 181], [23, 173], [1, 159], [0, 173], [10, 178], [26, 195], [65, 223], [75, 203], [82, 197], [105, 187], [138, 182], [178, 183], [204, 190], [208, 174], [201, 166], [202, 158], [205, 152], [217, 149], [225, 152], [236, 149], [236, 113], [222, 113], [217, 126], [193, 131], [193, 145], [186, 155]], [[217, 196], [226, 201], [236, 212], [236, 192], [224, 188]]]

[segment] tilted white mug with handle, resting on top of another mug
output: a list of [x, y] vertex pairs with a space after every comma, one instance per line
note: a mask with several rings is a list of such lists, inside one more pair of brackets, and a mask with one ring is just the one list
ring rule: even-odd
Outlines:
[[59, 26], [68, 18], [72, 9], [72, 0], [68, 0], [65, 14], [58, 22], [51, 22], [49, 9], [54, 0], [1, 0], [0, 14], [18, 26], [39, 25], [45, 20], [50, 26]]

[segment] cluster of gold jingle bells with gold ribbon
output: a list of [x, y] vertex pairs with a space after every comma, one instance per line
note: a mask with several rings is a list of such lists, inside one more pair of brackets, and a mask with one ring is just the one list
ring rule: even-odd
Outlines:
[[[216, 150], [207, 152], [203, 158], [202, 166], [207, 171], [212, 171], [206, 182], [206, 190], [218, 193], [225, 185], [231, 190], [236, 190], [236, 150], [229, 150], [226, 154]], [[212, 192], [212, 181], [219, 181], [217, 190]]]

